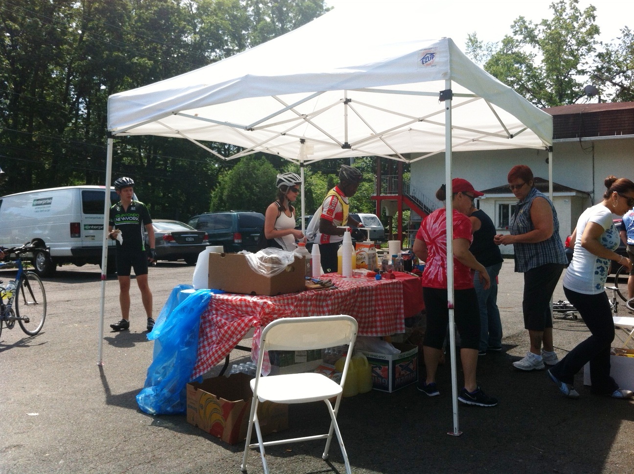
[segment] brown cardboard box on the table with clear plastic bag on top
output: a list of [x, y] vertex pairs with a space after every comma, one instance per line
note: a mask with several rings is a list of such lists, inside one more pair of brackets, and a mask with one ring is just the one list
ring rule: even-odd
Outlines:
[[209, 288], [229, 293], [275, 296], [276, 294], [304, 291], [306, 287], [304, 257], [295, 256], [295, 262], [284, 272], [273, 277], [254, 272], [247, 258], [238, 253], [209, 254]]

